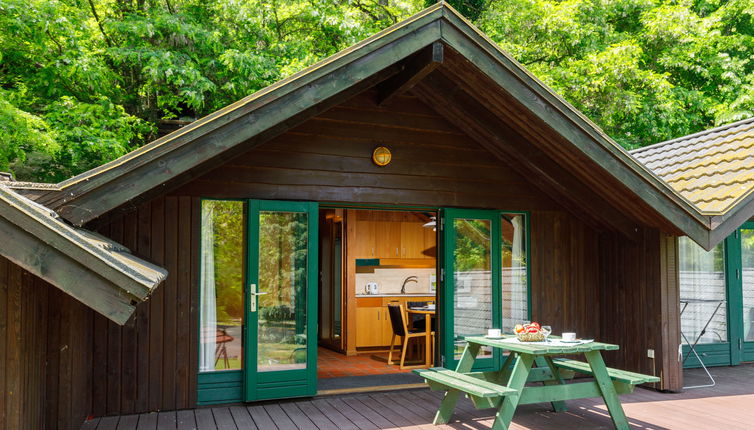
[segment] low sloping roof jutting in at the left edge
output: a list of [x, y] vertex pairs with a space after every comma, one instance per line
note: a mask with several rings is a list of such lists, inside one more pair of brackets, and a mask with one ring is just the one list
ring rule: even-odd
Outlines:
[[0, 254], [118, 324], [167, 272], [0, 185]]

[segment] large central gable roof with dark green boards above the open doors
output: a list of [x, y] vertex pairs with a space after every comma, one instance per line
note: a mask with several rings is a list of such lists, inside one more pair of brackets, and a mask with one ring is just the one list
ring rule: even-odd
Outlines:
[[[471, 94], [484, 103], [482, 113], [499, 123], [500, 132], [485, 135], [481, 130], [485, 127], [477, 127], [479, 139], [491, 141], [488, 146], [501, 158], [510, 156], [520, 142], [536, 140], [541, 147], [537, 162], [528, 166], [531, 171], [541, 172], [539, 163], [549, 162], [552, 168], [569, 164], [569, 171], [590, 191], [614, 205], [617, 212], [631, 212], [642, 220], [654, 216], [662, 220], [665, 230], [686, 234], [705, 248], [712, 246], [713, 220], [709, 216], [637, 163], [573, 106], [442, 2], [130, 154], [56, 184], [54, 190], [41, 193], [38, 201], [74, 225], [83, 225], [126, 202], [165, 192], [170, 184], [195, 177], [200, 167], [219, 165], [395, 76], [405, 69], [407, 59], [438, 42], [458, 54], [453, 67], [473, 69], [479, 79], [493, 82], [494, 88], [475, 89], [468, 82], [457, 80], [459, 87], [466, 85], [463, 91], [451, 88], [447, 92], [452, 94], [440, 96], [455, 103], [459, 97]], [[433, 76], [442, 77], [429, 77]], [[436, 85], [444, 82], [434, 81]], [[511, 97], [512, 103], [520, 104], [531, 118], [529, 122], [536, 121], [540, 130], [519, 136], [511, 125], [516, 117], [503, 112], [506, 106], [490, 95], [502, 97], [503, 93]], [[454, 107], [452, 103], [446, 105], [451, 119], [455, 116], [450, 113]], [[545, 132], [550, 135], [545, 136]], [[571, 192], [555, 180], [544, 183], [541, 189], [550, 187]], [[628, 195], [632, 197], [627, 198]], [[579, 201], [587, 207], [585, 212], [590, 212], [590, 201], [594, 199]], [[629, 226], [626, 230], [634, 229]]]

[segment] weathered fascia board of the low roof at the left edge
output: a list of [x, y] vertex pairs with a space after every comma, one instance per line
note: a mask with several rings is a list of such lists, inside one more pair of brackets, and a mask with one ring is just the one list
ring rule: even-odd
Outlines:
[[[120, 325], [125, 324], [136, 309], [131, 304], [131, 296], [113, 288], [76, 259], [2, 217], [0, 253]], [[72, 288], [74, 285], [86, 285], [86, 288]]]

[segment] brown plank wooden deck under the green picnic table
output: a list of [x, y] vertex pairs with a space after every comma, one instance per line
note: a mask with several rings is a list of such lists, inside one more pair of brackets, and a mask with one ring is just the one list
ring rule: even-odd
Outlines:
[[[754, 365], [714, 368], [713, 388], [663, 394], [637, 389], [622, 396], [623, 407], [636, 429], [751, 429], [754, 426]], [[703, 383], [699, 370], [686, 371], [688, 383]], [[441, 394], [426, 389], [254, 405], [202, 408], [88, 421], [82, 429], [489, 429], [491, 410], [477, 411], [464, 399], [454, 422], [433, 426]], [[519, 408], [511, 429], [613, 428], [605, 405], [598, 400], [568, 402], [569, 411], [553, 413], [549, 405]]]

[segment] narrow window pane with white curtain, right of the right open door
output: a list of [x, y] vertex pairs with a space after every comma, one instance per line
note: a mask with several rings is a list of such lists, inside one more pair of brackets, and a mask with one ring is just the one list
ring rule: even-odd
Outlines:
[[528, 320], [526, 222], [522, 214], [503, 214], [503, 331]]

